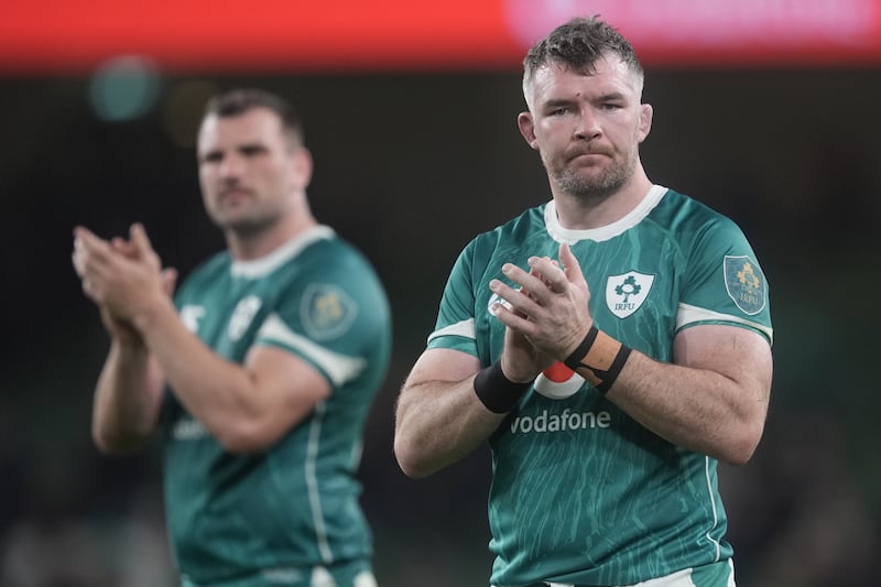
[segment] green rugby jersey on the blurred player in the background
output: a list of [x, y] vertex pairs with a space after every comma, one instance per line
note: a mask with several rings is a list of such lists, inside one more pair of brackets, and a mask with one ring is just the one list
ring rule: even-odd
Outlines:
[[241, 363], [254, 345], [271, 345], [308, 361], [331, 387], [276, 445], [250, 455], [227, 453], [170, 390], [165, 506], [182, 576], [283, 585], [314, 565], [369, 557], [356, 471], [391, 348], [389, 303], [369, 262], [319, 226], [259, 260], [215, 256], [175, 304], [219, 356]]

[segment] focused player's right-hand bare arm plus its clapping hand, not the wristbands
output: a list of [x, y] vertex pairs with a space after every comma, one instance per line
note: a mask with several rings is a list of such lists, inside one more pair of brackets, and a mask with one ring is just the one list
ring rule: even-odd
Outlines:
[[[594, 323], [577, 259], [563, 246], [561, 260], [565, 271], [539, 258], [530, 260], [532, 273], [503, 268], [530, 296], [498, 280], [490, 284], [512, 306], [499, 306], [499, 319], [557, 360], [578, 347]], [[760, 334], [736, 326], [694, 326], [675, 338], [674, 363], [633, 351], [608, 398], [671, 443], [742, 464], [762, 435], [771, 376], [771, 348]]]

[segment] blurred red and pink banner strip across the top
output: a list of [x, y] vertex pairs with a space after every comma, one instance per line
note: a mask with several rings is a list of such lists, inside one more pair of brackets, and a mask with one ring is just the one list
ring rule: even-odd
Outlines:
[[166, 72], [516, 69], [599, 13], [648, 66], [881, 64], [881, 0], [4, 0], [0, 74], [138, 55]]

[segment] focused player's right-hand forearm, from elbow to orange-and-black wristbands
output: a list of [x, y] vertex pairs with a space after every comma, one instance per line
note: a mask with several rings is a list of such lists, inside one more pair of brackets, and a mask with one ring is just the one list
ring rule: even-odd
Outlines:
[[755, 379], [662, 363], [634, 351], [607, 396], [675, 445], [743, 464], [761, 438], [768, 391]]

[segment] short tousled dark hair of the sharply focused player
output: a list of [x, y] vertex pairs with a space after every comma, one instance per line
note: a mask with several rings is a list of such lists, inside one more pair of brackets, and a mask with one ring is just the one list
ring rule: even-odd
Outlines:
[[598, 14], [570, 19], [526, 53], [523, 58], [524, 90], [542, 67], [556, 63], [575, 72], [592, 74], [597, 61], [606, 54], [617, 55], [640, 79], [644, 77], [637, 52], [614, 26], [599, 20]]

